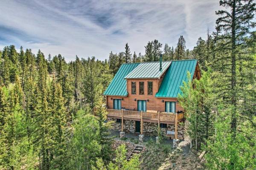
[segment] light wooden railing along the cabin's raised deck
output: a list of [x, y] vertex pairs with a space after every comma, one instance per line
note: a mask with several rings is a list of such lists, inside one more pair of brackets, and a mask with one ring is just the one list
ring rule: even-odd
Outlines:
[[[126, 118], [137, 118], [141, 119], [151, 119], [151, 120], [158, 120], [166, 121], [166, 122], [175, 122], [176, 113], [152, 113], [152, 112], [141, 112], [141, 111], [128, 111], [128, 110], [116, 110], [116, 109], [107, 109], [108, 116], [119, 116], [119, 117], [126, 117]], [[159, 118], [158, 118], [159, 114]], [[177, 114], [177, 121], [180, 121], [184, 118], [184, 113]]]

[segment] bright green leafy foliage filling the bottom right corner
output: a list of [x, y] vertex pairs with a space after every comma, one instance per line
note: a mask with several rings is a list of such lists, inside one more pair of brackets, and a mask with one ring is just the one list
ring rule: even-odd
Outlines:
[[[231, 111], [231, 109], [230, 109]], [[227, 133], [230, 128], [231, 116], [220, 110], [218, 120], [215, 124], [216, 135], [214, 142], [208, 141], [205, 146], [207, 150], [205, 159], [208, 169], [211, 170], [254, 170], [256, 168], [256, 146], [246, 139], [241, 133], [233, 140], [232, 133]]]

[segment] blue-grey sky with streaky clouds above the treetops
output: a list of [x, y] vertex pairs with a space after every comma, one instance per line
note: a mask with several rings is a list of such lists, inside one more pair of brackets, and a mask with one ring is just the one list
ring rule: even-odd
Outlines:
[[0, 49], [103, 60], [127, 42], [137, 54], [154, 39], [175, 48], [180, 35], [192, 49], [215, 31], [219, 8], [218, 0], [1, 0]]

